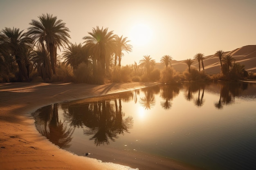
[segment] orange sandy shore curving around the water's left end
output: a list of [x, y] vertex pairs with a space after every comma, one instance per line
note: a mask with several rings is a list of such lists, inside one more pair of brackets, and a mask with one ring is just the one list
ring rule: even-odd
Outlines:
[[[31, 113], [57, 102], [127, 91], [157, 83], [128, 84], [0, 84], [0, 170], [129, 170], [114, 163], [79, 157], [59, 149], [36, 130]], [[170, 165], [168, 165], [170, 166]], [[173, 161], [170, 169], [192, 170]]]

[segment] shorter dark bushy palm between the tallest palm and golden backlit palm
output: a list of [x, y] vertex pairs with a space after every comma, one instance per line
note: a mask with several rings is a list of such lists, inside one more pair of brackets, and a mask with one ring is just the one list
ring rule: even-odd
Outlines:
[[64, 63], [66, 65], [70, 64], [73, 70], [76, 70], [79, 64], [84, 62], [85, 64], [91, 64], [90, 55], [88, 49], [82, 46], [81, 43], [78, 45], [70, 43], [67, 49], [63, 51]]

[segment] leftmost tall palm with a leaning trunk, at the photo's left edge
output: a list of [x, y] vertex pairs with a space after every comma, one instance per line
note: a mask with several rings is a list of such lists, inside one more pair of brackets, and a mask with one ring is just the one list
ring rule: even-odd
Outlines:
[[24, 30], [20, 31], [20, 29], [14, 27], [13, 29], [5, 27], [5, 29], [2, 29], [0, 36], [1, 44], [4, 46], [6, 53], [9, 54], [9, 56], [15, 57], [20, 75], [28, 80], [24, 60], [22, 58], [22, 51], [31, 48], [32, 39], [27, 36], [27, 33], [23, 33], [23, 31]]

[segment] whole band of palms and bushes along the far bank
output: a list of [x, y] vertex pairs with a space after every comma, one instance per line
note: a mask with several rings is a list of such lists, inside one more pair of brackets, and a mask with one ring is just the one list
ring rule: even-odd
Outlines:
[[[172, 67], [171, 55], [162, 56], [160, 61], [150, 55], [138, 56], [139, 64], [122, 66], [121, 59], [125, 53], [132, 52], [132, 45], [127, 37], [116, 35], [108, 28], [93, 27], [88, 35], [81, 37], [83, 43], [72, 44], [70, 30], [56, 16], [42, 14], [29, 24], [27, 32], [7, 27], [0, 32], [0, 82], [176, 83], [255, 78], [222, 50], [215, 53], [220, 60], [220, 72], [214, 75], [204, 72], [202, 53], [185, 60], [188, 68], [183, 72]], [[62, 53], [57, 54], [61, 49]], [[155, 67], [157, 62], [165, 67]], [[191, 68], [195, 62], [198, 69]]]

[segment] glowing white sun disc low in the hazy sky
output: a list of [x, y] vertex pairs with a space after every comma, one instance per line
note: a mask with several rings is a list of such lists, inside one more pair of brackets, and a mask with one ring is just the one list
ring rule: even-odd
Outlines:
[[137, 46], [145, 46], [152, 39], [152, 29], [146, 24], [136, 24], [132, 26], [130, 31], [131, 44]]

